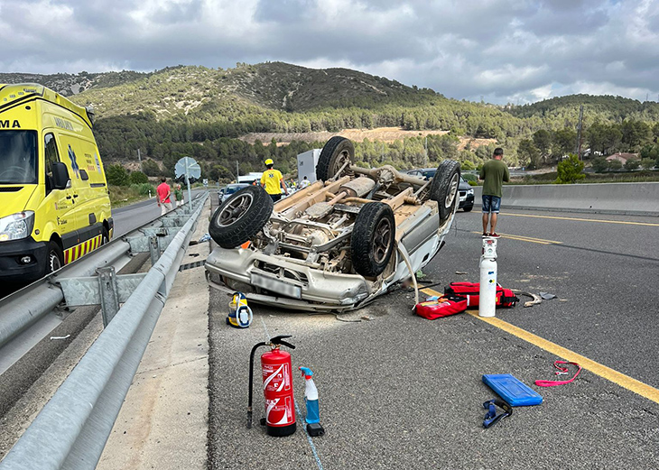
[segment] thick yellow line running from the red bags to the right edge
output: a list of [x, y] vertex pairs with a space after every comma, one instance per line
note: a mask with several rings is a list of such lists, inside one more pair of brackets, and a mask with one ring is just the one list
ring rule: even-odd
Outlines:
[[[441, 295], [441, 293], [437, 290], [424, 289], [422, 291], [428, 295]], [[659, 403], [659, 390], [648, 385], [647, 383], [637, 381], [636, 379], [633, 379], [624, 373], [619, 373], [610, 367], [607, 367], [606, 365], [596, 363], [588, 357], [579, 355], [565, 347], [558, 346], [557, 344], [552, 343], [551, 341], [548, 341], [540, 336], [536, 336], [533, 333], [529, 333], [520, 327], [515, 327], [515, 325], [511, 325], [510, 323], [507, 323], [500, 318], [478, 317], [478, 311], [468, 311], [467, 313], [469, 313], [469, 315], [474, 318], [483, 320], [493, 327], [497, 327], [506, 331], [506, 333], [517, 336], [520, 339], [524, 339], [524, 341], [527, 343], [538, 346], [541, 349], [552, 353], [552, 355], [557, 355], [566, 361], [579, 363], [581, 367], [589, 370], [591, 373], [599, 375], [600, 377], [607, 379], [609, 382], [617, 383], [617, 385], [620, 385], [622, 388], [625, 388], [631, 392], [635, 392], [648, 400]]]

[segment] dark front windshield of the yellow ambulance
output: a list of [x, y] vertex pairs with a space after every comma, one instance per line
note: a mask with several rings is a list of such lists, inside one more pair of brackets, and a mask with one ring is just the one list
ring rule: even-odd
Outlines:
[[0, 184], [37, 183], [37, 133], [0, 131]]

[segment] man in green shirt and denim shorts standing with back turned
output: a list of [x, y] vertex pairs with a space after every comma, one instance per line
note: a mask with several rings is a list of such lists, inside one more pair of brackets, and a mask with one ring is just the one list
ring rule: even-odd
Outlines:
[[[497, 216], [501, 207], [502, 186], [504, 181], [510, 180], [510, 173], [506, 163], [501, 161], [504, 149], [497, 147], [492, 160], [487, 161], [480, 169], [480, 179], [483, 183], [483, 238], [494, 236], [497, 238]], [[487, 232], [487, 225], [490, 229]]]

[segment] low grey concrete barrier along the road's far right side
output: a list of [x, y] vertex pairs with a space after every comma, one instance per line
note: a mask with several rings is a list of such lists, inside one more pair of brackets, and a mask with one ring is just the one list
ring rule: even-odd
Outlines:
[[[482, 191], [474, 187], [477, 206]], [[510, 185], [501, 200], [506, 207], [659, 217], [659, 182]]]

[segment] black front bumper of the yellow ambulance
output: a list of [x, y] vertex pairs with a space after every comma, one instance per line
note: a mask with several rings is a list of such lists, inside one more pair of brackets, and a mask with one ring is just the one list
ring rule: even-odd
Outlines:
[[[48, 247], [31, 237], [0, 242], [0, 279], [5, 282], [36, 281], [45, 273]], [[29, 263], [21, 259], [29, 256]]]

